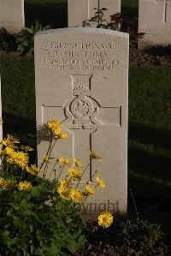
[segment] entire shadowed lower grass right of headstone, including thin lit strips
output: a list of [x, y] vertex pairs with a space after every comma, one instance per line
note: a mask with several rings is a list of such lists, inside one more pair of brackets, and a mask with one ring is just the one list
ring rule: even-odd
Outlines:
[[[128, 188], [140, 217], [162, 223], [171, 236], [171, 131], [129, 123]], [[128, 191], [129, 210], [134, 212]]]

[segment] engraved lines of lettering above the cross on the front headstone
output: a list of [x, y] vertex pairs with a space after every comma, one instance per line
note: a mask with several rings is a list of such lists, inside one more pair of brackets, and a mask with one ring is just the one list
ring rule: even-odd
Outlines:
[[109, 71], [120, 65], [115, 41], [109, 43], [44, 42], [42, 63], [60, 71]]

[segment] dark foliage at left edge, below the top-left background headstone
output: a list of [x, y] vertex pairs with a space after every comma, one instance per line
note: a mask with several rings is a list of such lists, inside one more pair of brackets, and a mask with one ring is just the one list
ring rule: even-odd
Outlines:
[[0, 28], [0, 50], [16, 51], [16, 40], [13, 34], [8, 33], [6, 28]]

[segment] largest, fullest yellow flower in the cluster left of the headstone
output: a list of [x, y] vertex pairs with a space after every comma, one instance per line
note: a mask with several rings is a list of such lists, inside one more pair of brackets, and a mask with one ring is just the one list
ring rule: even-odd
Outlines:
[[26, 168], [29, 162], [28, 154], [26, 152], [15, 152], [11, 156], [15, 164], [19, 165], [22, 169]]

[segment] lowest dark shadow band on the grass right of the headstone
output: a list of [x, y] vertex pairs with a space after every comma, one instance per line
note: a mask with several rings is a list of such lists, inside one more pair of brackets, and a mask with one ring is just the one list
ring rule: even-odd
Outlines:
[[139, 217], [162, 225], [162, 230], [171, 239], [171, 186], [151, 180], [148, 176], [139, 176], [133, 170], [128, 172], [128, 188], [132, 189], [133, 198], [128, 190], [128, 212], [137, 217], [133, 199]]

